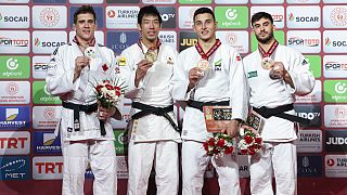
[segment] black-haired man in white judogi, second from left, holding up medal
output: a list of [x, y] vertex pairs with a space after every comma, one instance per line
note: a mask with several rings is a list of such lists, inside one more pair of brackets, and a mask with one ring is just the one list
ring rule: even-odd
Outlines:
[[141, 38], [119, 57], [132, 100], [129, 122], [128, 195], [145, 195], [152, 166], [158, 195], [178, 194], [178, 143], [181, 142], [171, 98], [172, 70], [177, 52], [162, 43], [162, 17], [153, 5], [138, 14]]

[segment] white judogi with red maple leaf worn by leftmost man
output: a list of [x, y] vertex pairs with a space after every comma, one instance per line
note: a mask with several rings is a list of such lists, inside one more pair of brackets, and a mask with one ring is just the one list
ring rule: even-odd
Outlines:
[[[103, 79], [115, 79], [118, 67], [112, 50], [95, 44], [97, 57], [73, 82], [75, 60], [83, 55], [73, 42], [57, 48], [47, 72], [47, 90], [62, 101], [91, 105], [97, 102], [93, 84]], [[102, 67], [104, 64], [107, 68]], [[117, 74], [118, 75], [118, 74]], [[119, 76], [119, 75], [118, 75]], [[120, 77], [119, 77], [120, 78]], [[120, 109], [121, 103], [117, 107]], [[94, 173], [94, 194], [117, 193], [116, 153], [110, 119], [105, 122], [106, 135], [102, 136], [97, 112], [79, 113], [79, 131], [74, 129], [74, 110], [62, 108], [59, 130], [64, 156], [63, 194], [83, 194], [85, 172], [88, 160]], [[57, 131], [56, 131], [57, 134]], [[102, 168], [104, 167], [104, 168]]]

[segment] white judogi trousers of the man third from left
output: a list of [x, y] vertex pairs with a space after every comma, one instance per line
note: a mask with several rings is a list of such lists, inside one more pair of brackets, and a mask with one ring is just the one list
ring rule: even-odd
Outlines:
[[203, 143], [196, 141], [183, 141], [182, 143], [182, 194], [202, 194], [204, 173], [209, 160], [218, 173], [219, 195], [241, 195], [236, 156], [227, 155], [217, 158], [207, 156]]

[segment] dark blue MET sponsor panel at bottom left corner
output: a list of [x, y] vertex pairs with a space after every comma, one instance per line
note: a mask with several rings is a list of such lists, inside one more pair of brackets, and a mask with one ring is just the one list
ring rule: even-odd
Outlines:
[[30, 179], [29, 156], [1, 156], [0, 180]]

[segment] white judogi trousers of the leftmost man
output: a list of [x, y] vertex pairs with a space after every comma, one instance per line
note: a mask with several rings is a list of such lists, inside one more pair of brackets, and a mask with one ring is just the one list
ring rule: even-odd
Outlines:
[[94, 195], [117, 194], [116, 152], [114, 141], [63, 142], [63, 195], [82, 195], [85, 173], [90, 162], [94, 174]]

